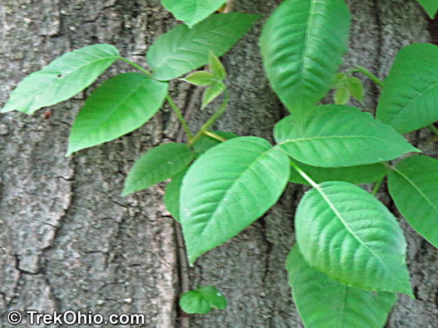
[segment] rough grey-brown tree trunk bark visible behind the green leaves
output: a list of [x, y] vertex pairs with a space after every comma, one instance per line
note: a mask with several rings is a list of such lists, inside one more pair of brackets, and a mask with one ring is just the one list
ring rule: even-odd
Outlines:
[[[224, 56], [231, 105], [217, 124], [222, 130], [270, 139], [274, 122], [285, 115], [264, 77], [257, 46], [261, 25], [279, 2], [235, 1], [235, 10], [265, 18]], [[402, 46], [437, 40], [415, 1], [348, 2], [353, 24], [345, 68], [361, 64], [385, 77]], [[143, 64], [149, 44], [175, 23], [159, 0], [1, 0], [0, 103], [27, 74], [88, 44], [114, 44]], [[126, 70], [117, 64], [106, 75]], [[365, 87], [365, 108], [372, 110], [378, 90], [368, 81]], [[44, 110], [31, 117], [0, 116], [0, 327], [10, 327], [5, 312], [31, 308], [140, 312], [146, 327], [181, 324], [182, 259], [175, 223], [162, 205], [164, 184], [120, 197], [133, 161], [177, 139], [179, 125], [164, 109], [135, 133], [66, 158], [70, 125], [90, 90], [52, 107], [49, 119]], [[199, 90], [181, 83], [172, 90], [192, 126], [199, 126], [207, 116], [196, 111]], [[438, 155], [436, 142], [425, 144], [428, 131], [410, 137], [426, 154]], [[283, 269], [301, 194], [300, 187], [289, 187], [263, 219], [198, 260], [190, 285], [218, 286], [229, 307], [192, 316], [190, 327], [302, 327]], [[396, 213], [387, 194], [380, 197]], [[436, 328], [438, 251], [400, 222], [417, 299], [401, 296], [387, 327]]]

